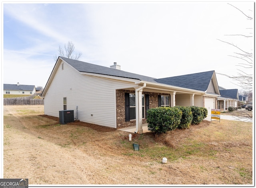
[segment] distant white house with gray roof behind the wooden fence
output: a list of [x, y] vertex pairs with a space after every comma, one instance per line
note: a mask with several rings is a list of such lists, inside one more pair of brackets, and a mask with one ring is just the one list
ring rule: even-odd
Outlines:
[[36, 92], [35, 86], [17, 84], [4, 84], [4, 94], [33, 95]]

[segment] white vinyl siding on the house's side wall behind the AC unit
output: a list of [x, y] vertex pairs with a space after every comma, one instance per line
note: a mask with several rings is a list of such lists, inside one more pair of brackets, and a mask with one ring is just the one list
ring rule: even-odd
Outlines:
[[63, 70], [61, 65], [58, 67], [45, 95], [44, 111], [58, 117], [66, 97], [67, 110], [74, 110], [75, 119], [78, 116], [83, 122], [116, 128], [116, 89], [135, 86], [134, 82], [80, 74], [64, 63]]

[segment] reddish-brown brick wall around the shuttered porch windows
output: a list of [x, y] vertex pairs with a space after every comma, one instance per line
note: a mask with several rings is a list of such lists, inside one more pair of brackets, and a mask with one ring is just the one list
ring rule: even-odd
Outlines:
[[[125, 93], [135, 93], [135, 90], [116, 90], [116, 128], [131, 127], [136, 125], [136, 120], [125, 121]], [[149, 95], [149, 108], [158, 107], [158, 95], [169, 95], [164, 93], [142, 92]], [[144, 96], [145, 97], [145, 96]], [[146, 103], [146, 100], [144, 100]], [[146, 104], [145, 104], [146, 106]], [[147, 119], [143, 118], [142, 123], [146, 123]]]

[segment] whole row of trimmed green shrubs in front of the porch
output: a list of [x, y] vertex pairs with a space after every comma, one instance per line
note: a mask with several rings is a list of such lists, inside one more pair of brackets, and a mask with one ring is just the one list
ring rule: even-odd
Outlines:
[[207, 108], [197, 106], [158, 107], [148, 110], [148, 130], [156, 134], [174, 129], [186, 129], [207, 117]]

